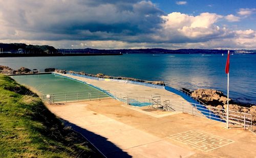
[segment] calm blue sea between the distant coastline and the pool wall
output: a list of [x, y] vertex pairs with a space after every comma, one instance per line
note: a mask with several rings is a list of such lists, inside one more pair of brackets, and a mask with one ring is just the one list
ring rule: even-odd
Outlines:
[[[123, 56], [15, 57], [0, 58], [0, 65], [12, 69], [55, 67], [57, 69], [103, 73], [111, 76], [161, 80], [174, 87], [214, 88], [226, 94], [226, 55], [124, 54]], [[256, 103], [256, 55], [230, 56], [230, 97]]]

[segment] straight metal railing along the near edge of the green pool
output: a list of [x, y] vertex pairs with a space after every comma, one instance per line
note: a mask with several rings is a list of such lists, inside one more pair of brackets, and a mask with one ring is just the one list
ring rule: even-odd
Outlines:
[[48, 101], [50, 104], [59, 102], [70, 101], [83, 101], [110, 98], [109, 91], [86, 91], [86, 92], [71, 92], [71, 93], [59, 93], [59, 94], [43, 94], [42, 100]]

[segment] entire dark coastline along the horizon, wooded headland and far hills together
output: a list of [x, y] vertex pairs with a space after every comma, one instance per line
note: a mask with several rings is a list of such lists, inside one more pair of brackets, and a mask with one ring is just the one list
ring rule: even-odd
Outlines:
[[[43, 56], [99, 56], [122, 54], [226, 54], [227, 50], [210, 49], [56, 49], [52, 46], [27, 45], [25, 43], [0, 43], [0, 57], [43, 57]], [[230, 50], [232, 54], [256, 54], [256, 50]]]

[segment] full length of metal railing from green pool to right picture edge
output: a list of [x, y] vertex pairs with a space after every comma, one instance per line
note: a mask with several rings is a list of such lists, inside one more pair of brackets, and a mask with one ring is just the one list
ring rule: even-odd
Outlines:
[[[186, 92], [186, 91], [185, 91]], [[187, 93], [187, 92], [186, 92]], [[187, 93], [189, 94], [189, 93]], [[207, 106], [205, 104], [196, 104], [190, 102], [177, 102], [173, 100], [165, 100], [161, 103], [160, 96], [149, 97], [133, 97], [127, 96], [121, 93], [115, 93], [110, 91], [90, 91], [90, 92], [75, 92], [75, 93], [60, 93], [60, 94], [49, 94], [41, 95], [43, 100], [52, 103], [70, 102], [70, 101], [83, 101], [83, 100], [94, 100], [103, 98], [115, 98], [128, 105], [133, 106], [151, 106], [166, 111], [182, 111], [193, 116], [208, 118], [220, 122], [226, 122], [226, 109], [221, 109], [213, 106]], [[200, 102], [202, 103], [202, 102]], [[252, 122], [252, 115], [244, 112], [229, 110], [229, 123], [234, 125], [243, 125], [251, 127], [255, 123]]]

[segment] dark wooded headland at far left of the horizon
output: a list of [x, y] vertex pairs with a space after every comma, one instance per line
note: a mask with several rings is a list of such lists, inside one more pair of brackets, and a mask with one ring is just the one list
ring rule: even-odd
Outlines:
[[[58, 50], [52, 46], [27, 45], [25, 43], [0, 43], [4, 53], [55, 54]], [[1, 50], [2, 51], [2, 50]]]

